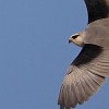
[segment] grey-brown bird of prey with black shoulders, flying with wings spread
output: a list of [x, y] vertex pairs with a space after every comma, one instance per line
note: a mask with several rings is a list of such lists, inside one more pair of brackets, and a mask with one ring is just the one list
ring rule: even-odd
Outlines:
[[84, 0], [87, 27], [69, 43], [82, 47], [60, 87], [60, 109], [75, 109], [96, 94], [109, 77], [109, 0]]

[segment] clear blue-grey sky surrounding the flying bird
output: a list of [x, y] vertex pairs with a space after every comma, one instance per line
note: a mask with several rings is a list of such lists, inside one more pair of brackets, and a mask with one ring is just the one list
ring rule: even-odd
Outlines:
[[[59, 89], [87, 25], [83, 0], [0, 0], [0, 109], [58, 109]], [[107, 82], [108, 83], [108, 82]], [[77, 109], [108, 109], [109, 83]]]

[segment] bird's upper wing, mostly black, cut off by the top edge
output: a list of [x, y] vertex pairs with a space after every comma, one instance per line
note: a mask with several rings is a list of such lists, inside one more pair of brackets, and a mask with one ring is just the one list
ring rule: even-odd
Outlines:
[[84, 0], [88, 11], [88, 23], [109, 16], [109, 0]]

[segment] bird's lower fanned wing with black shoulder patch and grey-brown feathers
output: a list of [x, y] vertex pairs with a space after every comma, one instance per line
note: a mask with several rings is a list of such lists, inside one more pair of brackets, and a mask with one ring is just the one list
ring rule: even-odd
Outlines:
[[72, 109], [86, 101], [108, 76], [109, 49], [86, 44], [64, 77], [58, 100], [60, 109]]

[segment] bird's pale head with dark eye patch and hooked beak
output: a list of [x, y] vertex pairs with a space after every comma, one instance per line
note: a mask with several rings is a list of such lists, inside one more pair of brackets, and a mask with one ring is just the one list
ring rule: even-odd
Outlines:
[[74, 34], [70, 37], [69, 44], [73, 43], [80, 47], [83, 47], [84, 46], [84, 36], [85, 36], [84, 33]]

